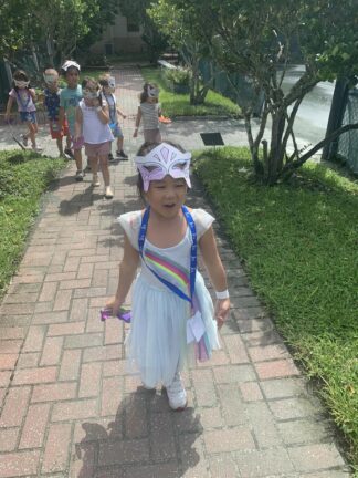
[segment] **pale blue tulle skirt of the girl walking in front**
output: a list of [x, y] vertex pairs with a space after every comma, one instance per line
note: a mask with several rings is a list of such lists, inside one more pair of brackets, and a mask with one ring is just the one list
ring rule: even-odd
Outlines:
[[[220, 349], [212, 300], [198, 272], [196, 298], [206, 329], [206, 349]], [[194, 343], [187, 344], [187, 320], [190, 304], [164, 287], [149, 283], [144, 274], [133, 291], [131, 325], [126, 340], [130, 371], [140, 373], [148, 387], [171, 384], [177, 370], [196, 361]]]

